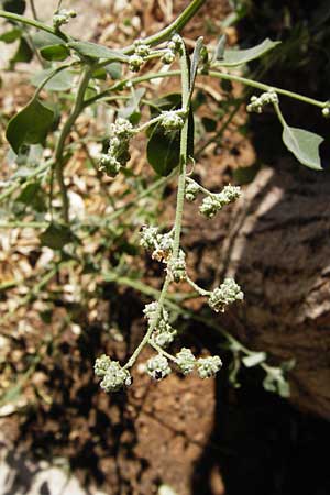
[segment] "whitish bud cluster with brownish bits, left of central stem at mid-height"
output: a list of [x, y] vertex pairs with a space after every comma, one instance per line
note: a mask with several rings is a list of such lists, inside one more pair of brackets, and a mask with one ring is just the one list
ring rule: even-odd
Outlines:
[[140, 244], [142, 248], [152, 251], [153, 260], [167, 262], [173, 250], [173, 234], [160, 234], [156, 227], [143, 227], [141, 230]]

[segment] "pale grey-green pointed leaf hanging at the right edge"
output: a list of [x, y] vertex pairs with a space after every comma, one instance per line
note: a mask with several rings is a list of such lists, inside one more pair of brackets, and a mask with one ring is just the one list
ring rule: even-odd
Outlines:
[[319, 145], [324, 141], [323, 138], [304, 129], [290, 128], [286, 123], [283, 125], [282, 138], [286, 147], [302, 165], [315, 170], [322, 169]]

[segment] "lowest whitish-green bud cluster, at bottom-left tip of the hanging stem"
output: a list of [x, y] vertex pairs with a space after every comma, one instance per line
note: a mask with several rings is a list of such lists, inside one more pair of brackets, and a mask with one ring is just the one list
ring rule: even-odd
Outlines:
[[102, 378], [100, 387], [105, 392], [118, 392], [132, 384], [130, 372], [106, 354], [96, 360], [94, 370], [95, 374]]

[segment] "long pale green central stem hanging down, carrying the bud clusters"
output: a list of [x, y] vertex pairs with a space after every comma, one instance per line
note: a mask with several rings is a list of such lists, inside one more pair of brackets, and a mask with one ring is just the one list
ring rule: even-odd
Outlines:
[[[185, 45], [183, 43], [183, 54], [180, 56], [180, 69], [182, 69], [182, 87], [183, 87], [183, 108], [187, 110], [188, 113], [188, 105], [189, 105], [189, 66], [186, 56]], [[185, 201], [185, 187], [186, 187], [186, 165], [187, 165], [187, 150], [188, 150], [188, 118], [186, 117], [185, 125], [182, 130], [180, 135], [180, 165], [179, 165], [179, 177], [178, 177], [178, 189], [177, 189], [177, 201], [176, 201], [176, 215], [175, 215], [175, 224], [174, 224], [174, 241], [173, 241], [173, 257], [176, 258], [179, 252], [180, 245], [180, 233], [182, 233], [182, 224], [183, 224], [183, 212], [184, 212], [184, 201]], [[155, 330], [158, 320], [161, 318], [161, 314], [164, 307], [164, 302], [167, 297], [167, 290], [172, 283], [170, 273], [166, 273], [166, 277], [163, 284], [163, 288], [161, 290], [160, 299], [157, 301], [157, 309], [155, 315], [150, 322], [148, 329], [124, 365], [124, 370], [130, 369], [134, 365], [136, 359], [139, 358], [141, 351], [148, 343], [150, 338]]]

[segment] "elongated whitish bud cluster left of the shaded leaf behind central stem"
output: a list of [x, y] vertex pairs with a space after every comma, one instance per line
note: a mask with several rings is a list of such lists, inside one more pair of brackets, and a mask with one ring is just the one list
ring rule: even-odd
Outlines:
[[118, 118], [110, 125], [110, 144], [107, 154], [100, 158], [99, 169], [110, 177], [114, 177], [125, 166], [131, 155], [129, 152], [130, 139], [134, 134], [134, 128], [127, 119]]

